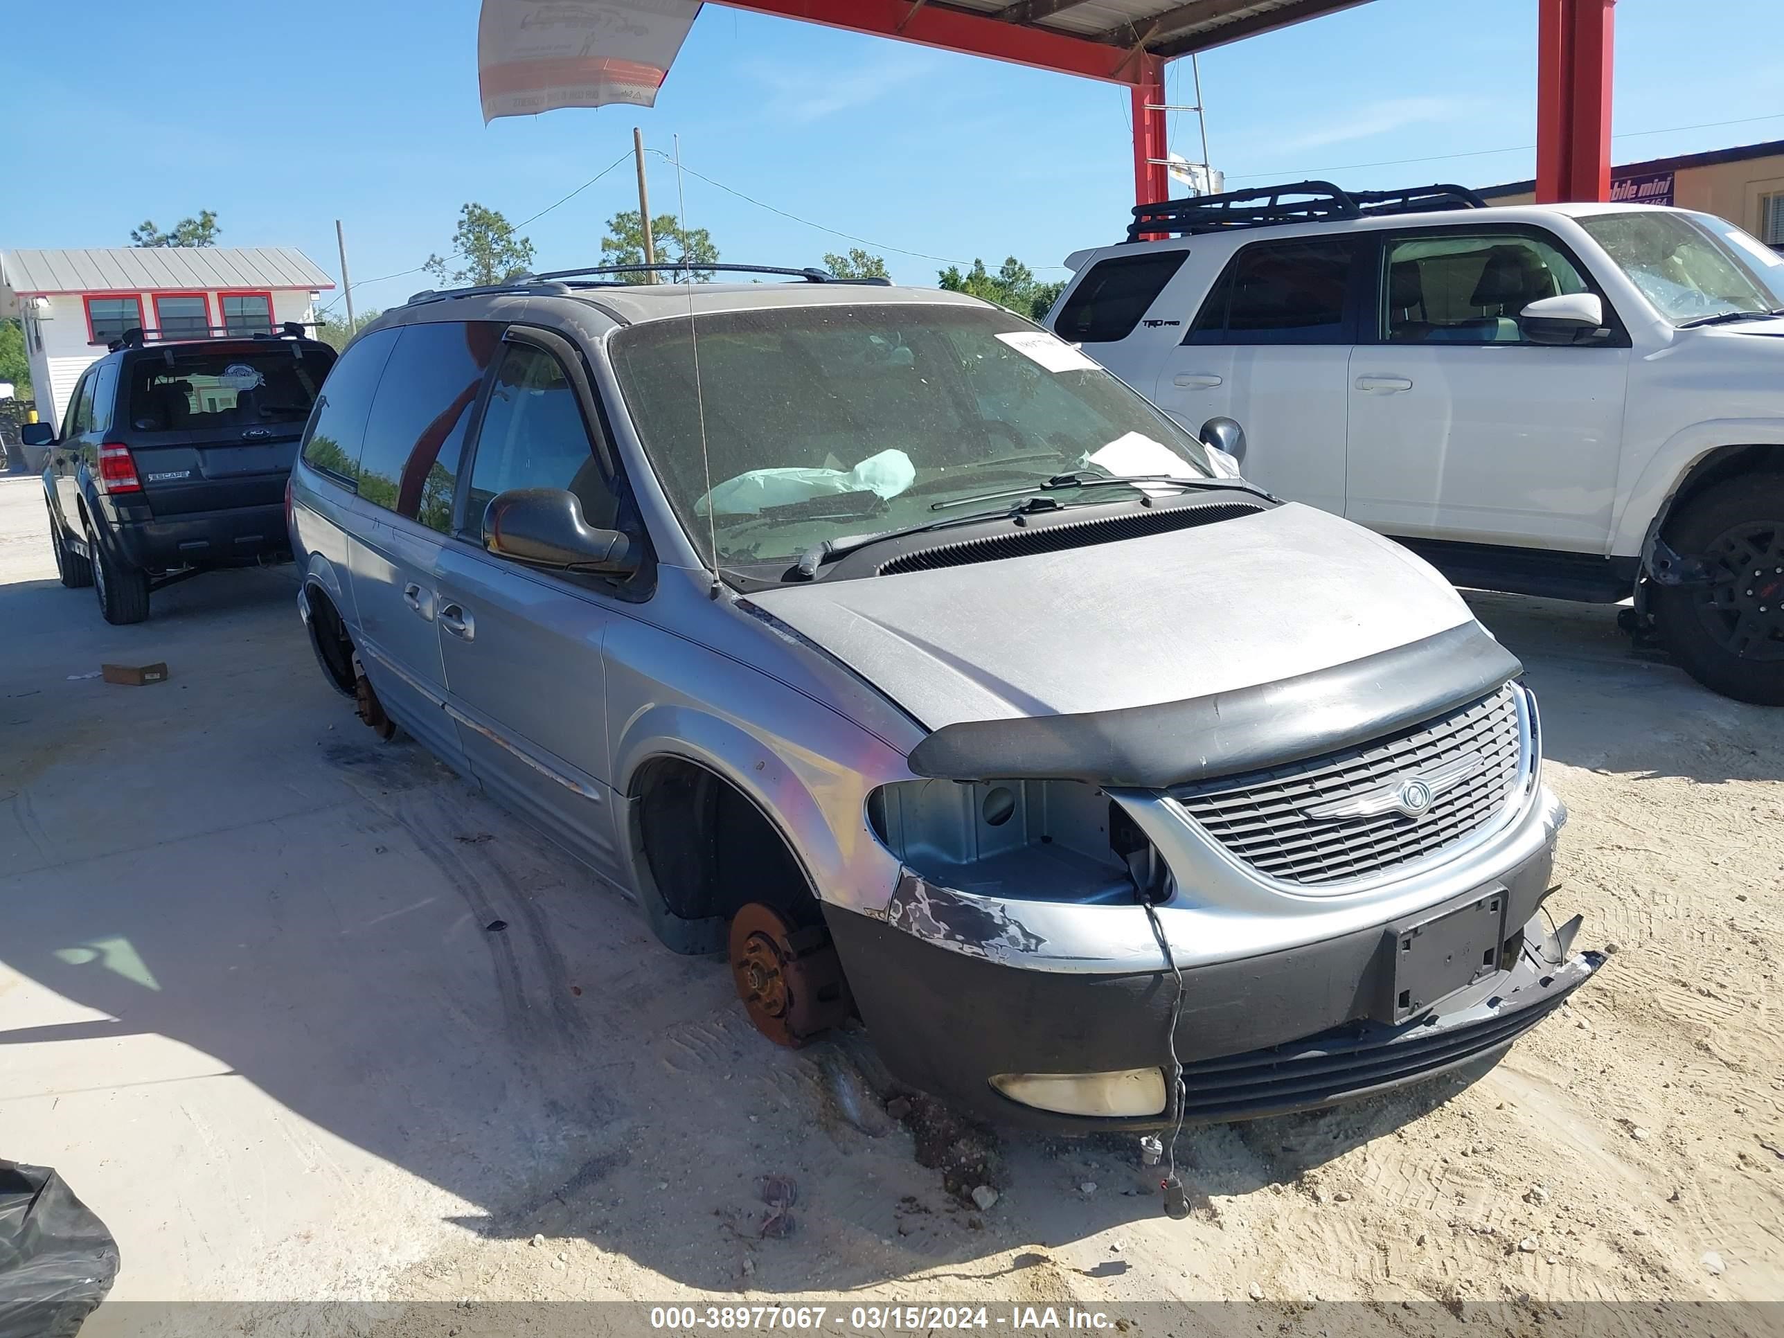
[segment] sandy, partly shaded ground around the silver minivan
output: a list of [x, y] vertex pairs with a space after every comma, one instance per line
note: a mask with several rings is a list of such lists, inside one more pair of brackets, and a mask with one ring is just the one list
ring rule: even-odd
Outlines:
[[1613, 610], [1474, 599], [1572, 808], [1552, 910], [1618, 949], [1573, 1006], [1472, 1081], [1185, 1133], [1185, 1222], [1127, 1140], [969, 1133], [981, 1211], [869, 1038], [765, 1044], [721, 965], [380, 747], [291, 569], [107, 628], [36, 489], [0, 478], [0, 1156], [107, 1220], [116, 1301], [1784, 1299], [1784, 712]]

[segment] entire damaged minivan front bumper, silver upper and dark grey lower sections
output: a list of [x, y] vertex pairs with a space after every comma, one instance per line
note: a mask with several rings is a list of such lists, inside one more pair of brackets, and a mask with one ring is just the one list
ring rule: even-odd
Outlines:
[[[1550, 933], [1540, 912], [1563, 822], [1559, 801], [1532, 783], [1516, 819], [1470, 858], [1404, 887], [1363, 897], [1270, 894], [1265, 910], [1236, 897], [1197, 901], [1179, 885], [1156, 915], [1181, 969], [1183, 1117], [1309, 1110], [1502, 1054], [1604, 962], [1573, 953], [1577, 921]], [[1490, 931], [1468, 937], [1470, 908], [1491, 910]], [[1449, 912], [1475, 978], [1449, 994], [1441, 985], [1427, 1004], [1416, 990], [1408, 999], [1400, 944], [1409, 926], [1434, 926]], [[1169, 1094], [1177, 997], [1144, 906], [972, 896], [906, 869], [883, 913], [824, 913], [862, 1017], [903, 1081], [981, 1117], [1053, 1131], [1176, 1119], [1170, 1095], [1152, 1110], [1135, 1095]], [[1015, 1101], [1004, 1090], [1074, 1088], [1010, 1076], [1072, 1078], [1083, 1104]], [[1085, 1113], [1104, 1106], [1119, 1113]]]

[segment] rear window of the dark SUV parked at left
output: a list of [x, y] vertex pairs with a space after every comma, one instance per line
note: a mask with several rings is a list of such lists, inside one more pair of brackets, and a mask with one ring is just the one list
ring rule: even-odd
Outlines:
[[130, 426], [137, 432], [200, 432], [301, 423], [310, 416], [334, 351], [289, 344], [194, 348], [145, 353], [130, 366]]

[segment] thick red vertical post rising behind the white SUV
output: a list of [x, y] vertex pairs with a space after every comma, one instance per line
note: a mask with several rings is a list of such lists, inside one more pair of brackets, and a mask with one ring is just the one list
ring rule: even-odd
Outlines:
[[1541, 0], [1536, 30], [1536, 200], [1611, 198], [1616, 0]]

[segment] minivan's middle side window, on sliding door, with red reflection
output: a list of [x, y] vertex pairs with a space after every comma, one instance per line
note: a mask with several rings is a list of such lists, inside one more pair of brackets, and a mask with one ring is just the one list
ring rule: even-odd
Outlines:
[[500, 348], [501, 326], [491, 321], [403, 328], [366, 423], [362, 498], [430, 530], [451, 528], [471, 407]]

